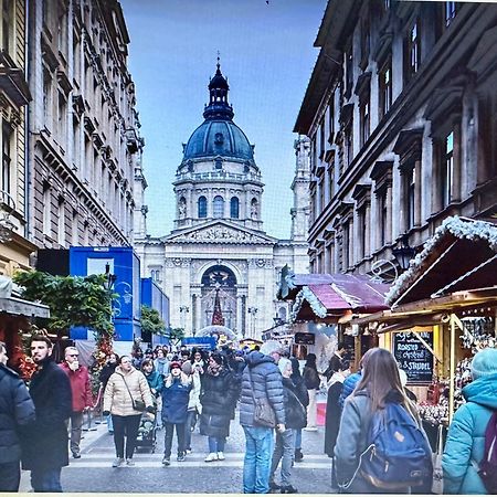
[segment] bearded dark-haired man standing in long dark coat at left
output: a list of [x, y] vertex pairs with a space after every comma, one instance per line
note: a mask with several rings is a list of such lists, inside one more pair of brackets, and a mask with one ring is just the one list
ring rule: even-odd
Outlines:
[[71, 383], [53, 361], [53, 345], [46, 336], [31, 337], [30, 351], [38, 367], [30, 382], [36, 419], [22, 434], [22, 467], [31, 469], [34, 491], [60, 493], [61, 470], [68, 465], [66, 421], [72, 413]]

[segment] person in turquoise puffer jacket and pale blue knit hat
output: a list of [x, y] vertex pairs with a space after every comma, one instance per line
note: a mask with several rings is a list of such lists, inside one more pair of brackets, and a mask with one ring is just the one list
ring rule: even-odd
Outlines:
[[464, 387], [466, 403], [448, 426], [442, 458], [444, 494], [488, 494], [478, 475], [485, 431], [497, 411], [497, 349], [484, 349], [472, 361], [473, 381]]

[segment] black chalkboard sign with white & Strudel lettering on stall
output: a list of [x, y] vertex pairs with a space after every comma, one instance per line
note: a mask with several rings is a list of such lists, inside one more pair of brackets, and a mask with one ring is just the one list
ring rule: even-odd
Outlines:
[[[432, 332], [421, 331], [419, 335], [433, 348]], [[393, 356], [408, 374], [409, 383], [430, 383], [433, 380], [433, 355], [414, 334], [393, 334]]]

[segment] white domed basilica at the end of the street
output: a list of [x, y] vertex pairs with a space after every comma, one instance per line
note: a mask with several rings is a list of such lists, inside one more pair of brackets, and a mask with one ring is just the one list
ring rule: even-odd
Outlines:
[[275, 299], [282, 267], [308, 269], [309, 142], [295, 144], [292, 235], [276, 240], [263, 230], [261, 169], [254, 146], [233, 123], [229, 85], [219, 64], [209, 94], [204, 121], [184, 145], [177, 169], [173, 230], [135, 240], [135, 248], [142, 276], [159, 282], [170, 298], [173, 327], [194, 335], [212, 324], [219, 302], [228, 328], [257, 338], [276, 317], [287, 318], [286, 304]]

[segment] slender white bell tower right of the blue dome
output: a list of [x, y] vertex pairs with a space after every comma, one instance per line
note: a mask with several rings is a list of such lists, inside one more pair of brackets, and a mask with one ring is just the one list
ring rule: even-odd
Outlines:
[[294, 207], [292, 214], [290, 240], [293, 242], [306, 242], [309, 230], [309, 186], [310, 186], [310, 140], [299, 137], [294, 144], [296, 166], [295, 177], [292, 182], [294, 192]]

